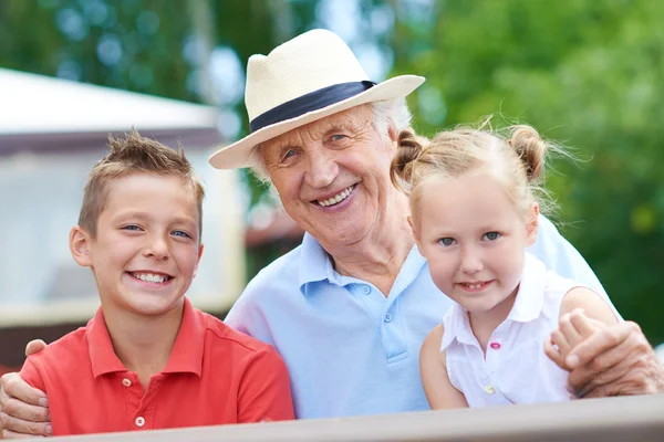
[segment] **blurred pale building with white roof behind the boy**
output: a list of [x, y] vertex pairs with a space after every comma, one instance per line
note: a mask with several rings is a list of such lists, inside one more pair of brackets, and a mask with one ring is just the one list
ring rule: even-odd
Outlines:
[[29, 339], [55, 339], [98, 306], [68, 235], [108, 134], [136, 128], [183, 145], [206, 188], [206, 249], [188, 296], [214, 314], [230, 308], [246, 282], [245, 225], [237, 172], [207, 164], [221, 141], [217, 117], [209, 106], [0, 69], [0, 366], [20, 366]]

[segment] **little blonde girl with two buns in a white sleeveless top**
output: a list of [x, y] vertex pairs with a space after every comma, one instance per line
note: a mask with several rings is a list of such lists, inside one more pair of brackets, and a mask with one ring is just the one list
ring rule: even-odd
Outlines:
[[434, 283], [455, 301], [421, 350], [433, 409], [567, 400], [568, 372], [544, 354], [550, 336], [559, 351], [571, 349], [551, 335], [559, 318], [582, 308], [594, 324], [618, 320], [595, 292], [526, 252], [549, 146], [529, 126], [510, 129], [509, 139], [461, 128], [430, 143], [400, 134], [392, 180], [409, 196]]

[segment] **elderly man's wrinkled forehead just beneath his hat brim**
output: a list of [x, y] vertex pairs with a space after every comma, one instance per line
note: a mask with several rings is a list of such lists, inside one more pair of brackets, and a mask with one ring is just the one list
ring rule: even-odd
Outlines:
[[293, 143], [319, 140], [338, 129], [361, 130], [373, 122], [372, 116], [371, 106], [369, 105], [352, 107], [287, 131], [264, 141], [262, 145], [263, 148], [282, 147]]

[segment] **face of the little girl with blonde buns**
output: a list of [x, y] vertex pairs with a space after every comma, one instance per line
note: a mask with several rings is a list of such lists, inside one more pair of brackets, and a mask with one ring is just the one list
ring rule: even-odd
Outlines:
[[469, 313], [509, 313], [538, 208], [526, 217], [487, 173], [422, 183], [411, 225], [436, 286]]

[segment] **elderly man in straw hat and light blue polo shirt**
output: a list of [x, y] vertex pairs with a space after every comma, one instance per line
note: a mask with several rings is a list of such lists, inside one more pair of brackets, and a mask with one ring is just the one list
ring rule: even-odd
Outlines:
[[[428, 409], [419, 347], [450, 301], [414, 246], [406, 198], [388, 173], [397, 135], [411, 123], [404, 98], [423, 82], [404, 75], [372, 83], [335, 34], [307, 32], [249, 60], [251, 134], [210, 158], [216, 168], [252, 167], [307, 231], [226, 318], [283, 356], [299, 418]], [[604, 294], [543, 218], [530, 251]], [[571, 339], [585, 319], [575, 313], [566, 322], [561, 332]], [[579, 397], [664, 391], [664, 369], [632, 323], [589, 335], [559, 364], [571, 368]], [[15, 373], [1, 387], [6, 434], [43, 434], [43, 394]]]

